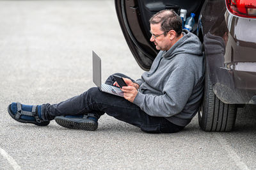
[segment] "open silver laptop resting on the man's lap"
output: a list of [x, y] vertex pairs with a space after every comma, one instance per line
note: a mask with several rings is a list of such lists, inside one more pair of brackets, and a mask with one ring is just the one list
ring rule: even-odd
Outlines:
[[124, 97], [124, 92], [120, 88], [101, 83], [101, 59], [94, 51], [92, 51], [92, 68], [93, 82], [100, 91]]

